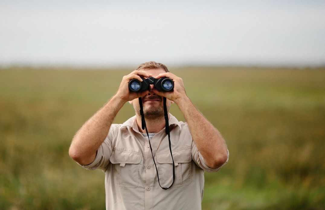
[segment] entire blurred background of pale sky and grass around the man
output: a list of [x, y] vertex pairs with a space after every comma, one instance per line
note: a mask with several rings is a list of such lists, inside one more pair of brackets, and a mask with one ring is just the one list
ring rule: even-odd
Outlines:
[[[104, 173], [68, 148], [150, 60], [183, 78], [227, 142], [202, 209], [325, 209], [324, 11], [316, 0], [2, 0], [0, 209], [105, 209]], [[126, 104], [115, 123], [133, 115]]]

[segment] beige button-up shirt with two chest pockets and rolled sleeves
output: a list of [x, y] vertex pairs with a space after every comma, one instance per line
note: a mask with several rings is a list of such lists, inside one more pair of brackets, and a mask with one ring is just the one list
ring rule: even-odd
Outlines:
[[[148, 137], [139, 132], [135, 116], [123, 124], [111, 125], [94, 162], [83, 166], [105, 172], [107, 210], [201, 209], [203, 173], [221, 167], [213, 169], [205, 164], [187, 123], [179, 122], [170, 114], [169, 124], [175, 182], [168, 190], [159, 186]], [[160, 184], [169, 187], [173, 182], [173, 162], [165, 129], [152, 138], [151, 146]]]

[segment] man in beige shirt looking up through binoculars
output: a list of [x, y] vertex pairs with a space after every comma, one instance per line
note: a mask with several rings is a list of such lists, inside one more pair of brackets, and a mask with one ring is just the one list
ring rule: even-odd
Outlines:
[[[143, 92], [129, 91], [130, 80], [149, 77], [172, 79], [174, 90], [161, 92], [151, 84]], [[152, 153], [142, 129], [139, 97]], [[176, 103], [186, 119], [179, 122], [168, 111], [173, 157], [165, 132], [163, 97], [167, 110]], [[133, 104], [136, 115], [123, 124], [112, 124], [126, 102]], [[105, 172], [106, 209], [121, 210], [201, 209], [204, 171], [218, 171], [229, 157], [218, 130], [187, 97], [182, 79], [156, 62], [141, 64], [123, 77], [117, 93], [76, 133], [69, 154], [84, 168]], [[171, 188], [162, 189], [172, 183]]]

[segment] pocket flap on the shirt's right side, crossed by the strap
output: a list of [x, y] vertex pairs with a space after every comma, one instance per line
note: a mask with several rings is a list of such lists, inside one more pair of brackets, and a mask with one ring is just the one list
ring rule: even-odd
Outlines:
[[[190, 163], [192, 161], [191, 149], [181, 149], [173, 152], [174, 163]], [[165, 152], [161, 154], [156, 154], [156, 159], [158, 163], [173, 163], [172, 156], [170, 152]]]

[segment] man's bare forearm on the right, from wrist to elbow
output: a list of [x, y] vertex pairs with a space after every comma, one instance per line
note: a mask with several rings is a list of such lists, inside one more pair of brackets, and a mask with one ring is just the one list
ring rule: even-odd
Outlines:
[[176, 103], [188, 123], [193, 141], [211, 168], [222, 166], [227, 160], [227, 145], [221, 134], [201, 114], [186, 96]]

